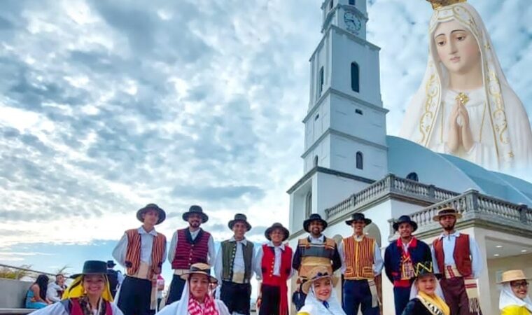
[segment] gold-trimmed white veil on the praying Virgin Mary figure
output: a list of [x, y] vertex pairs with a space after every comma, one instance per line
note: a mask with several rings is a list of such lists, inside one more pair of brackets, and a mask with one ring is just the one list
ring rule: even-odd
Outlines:
[[493, 154], [497, 155], [498, 169], [530, 165], [532, 145], [529, 142], [532, 142], [532, 132], [526, 111], [507, 83], [482, 18], [468, 3], [456, 3], [434, 10], [428, 29], [430, 53], [425, 76], [407, 107], [399, 136], [426, 147], [429, 144], [438, 144], [440, 147], [444, 143], [442, 92], [448, 86], [449, 73], [437, 57], [433, 34], [440, 23], [451, 20], [463, 25], [479, 44], [483, 94], [487, 104], [486, 123], [490, 130], [483, 133], [482, 137], [493, 139], [496, 146], [496, 153]]

